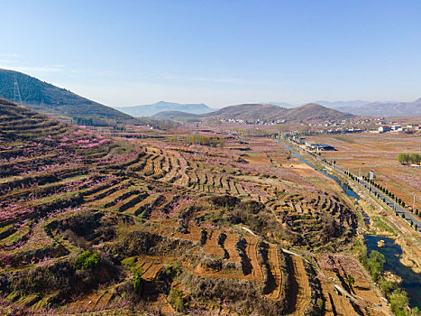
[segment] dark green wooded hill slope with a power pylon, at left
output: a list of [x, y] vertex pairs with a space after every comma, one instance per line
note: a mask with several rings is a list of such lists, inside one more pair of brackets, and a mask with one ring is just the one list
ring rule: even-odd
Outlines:
[[19, 102], [15, 85], [19, 85], [22, 104], [36, 111], [63, 119], [85, 120], [95, 125], [112, 125], [133, 120], [132, 116], [112, 107], [78, 96], [22, 72], [0, 69], [0, 97]]

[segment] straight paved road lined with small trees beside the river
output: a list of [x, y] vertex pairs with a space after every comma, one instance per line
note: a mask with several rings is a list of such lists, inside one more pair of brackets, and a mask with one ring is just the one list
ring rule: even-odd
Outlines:
[[[308, 152], [306, 149], [304, 149], [304, 148], [302, 148], [301, 146], [298, 146], [297, 144], [295, 144], [294, 142], [292, 142], [292, 141], [290, 141], [290, 140], [288, 140], [288, 142], [290, 143], [290, 144], [294, 144], [295, 146], [297, 146], [299, 149], [301, 149], [302, 151], [304, 151], [304, 152], [306, 152], [306, 153], [309, 153], [309, 154], [311, 154], [310, 152]], [[322, 158], [321, 157], [319, 157], [319, 156], [314, 156], [316, 159], [318, 159], [321, 163], [323, 163], [323, 164], [327, 164], [327, 163], [325, 163], [323, 160], [322, 160]], [[338, 171], [338, 172], [341, 172], [341, 173], [343, 173], [343, 175], [345, 175], [346, 176], [346, 174], [345, 174], [345, 170], [343, 170], [341, 167], [338, 167], [337, 165], [335, 165], [335, 164], [328, 164], [330, 167], [333, 167], [334, 168], [334, 170], [336, 170], [336, 171]], [[386, 204], [388, 205], [388, 207], [389, 207], [389, 209], [390, 210], [392, 210], [393, 211], [393, 209], [394, 209], [394, 204], [395, 204], [395, 201], [394, 200], [391, 200], [390, 198], [389, 198], [389, 196], [387, 196], [386, 194], [384, 194], [382, 191], [380, 191], [380, 190], [377, 190], [375, 187], [373, 187], [372, 185], [370, 185], [369, 184], [369, 182], [367, 182], [367, 181], [365, 181], [365, 180], [363, 180], [362, 178], [359, 178], [359, 182], [358, 181], [354, 181], [354, 180], [352, 180], [351, 178], [348, 178], [349, 179], [349, 181], [353, 181], [354, 183], [360, 183], [363, 187], [365, 187], [367, 190], [369, 190], [369, 187], [371, 188], [371, 192], [376, 192], [376, 193], [378, 193], [378, 194], [380, 194], [380, 200], [381, 201], [383, 201], [383, 199], [385, 199], [386, 200]], [[417, 218], [414, 214], [412, 214], [410, 211], [408, 211], [407, 209], [405, 209], [405, 208], [403, 208], [403, 207], [401, 207], [400, 205], [398, 205], [398, 202], [396, 203], [396, 208], [395, 208], [395, 212], [396, 213], [398, 213], [399, 214], [399, 216], [401, 216], [402, 215], [402, 213], [403, 214], [405, 214], [405, 220], [407, 221], [407, 223], [409, 224], [409, 225], [411, 225], [411, 220], [413, 221], [413, 223], [414, 223], [414, 227], [415, 227], [415, 225], [418, 225], [418, 228], [417, 228], [417, 231], [418, 231], [418, 233], [420, 233], [421, 234], [421, 220], [419, 219], [419, 218]], [[415, 229], [415, 228], [414, 228]]]

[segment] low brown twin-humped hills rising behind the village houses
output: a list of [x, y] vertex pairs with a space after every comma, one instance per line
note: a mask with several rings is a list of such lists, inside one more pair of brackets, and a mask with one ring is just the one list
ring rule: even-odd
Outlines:
[[289, 121], [316, 121], [351, 118], [352, 114], [340, 112], [334, 108], [323, 107], [315, 103], [301, 107], [279, 107], [269, 104], [241, 104], [224, 107], [215, 112], [202, 115], [192, 113], [166, 111], [152, 116], [157, 119], [243, 119], [243, 120], [289, 120]]

